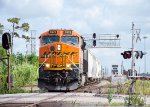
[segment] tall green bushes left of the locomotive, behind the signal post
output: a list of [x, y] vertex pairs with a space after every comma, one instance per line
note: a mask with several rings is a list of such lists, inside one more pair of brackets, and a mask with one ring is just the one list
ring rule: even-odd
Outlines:
[[[0, 45], [0, 56], [6, 58], [6, 52]], [[25, 85], [33, 85], [38, 78], [38, 57], [35, 54], [22, 55], [12, 54], [11, 76], [13, 77], [13, 88], [7, 90], [7, 60], [0, 60], [0, 93], [17, 93], [24, 92], [21, 88]]]

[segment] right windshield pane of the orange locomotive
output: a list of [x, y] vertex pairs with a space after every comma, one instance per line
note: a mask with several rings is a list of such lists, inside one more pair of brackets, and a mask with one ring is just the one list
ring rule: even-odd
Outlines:
[[79, 45], [79, 39], [77, 36], [62, 36], [61, 41], [73, 46]]

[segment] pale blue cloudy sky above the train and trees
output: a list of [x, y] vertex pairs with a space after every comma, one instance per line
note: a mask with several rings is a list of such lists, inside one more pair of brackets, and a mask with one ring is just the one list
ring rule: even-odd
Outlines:
[[[84, 37], [88, 37], [87, 34], [92, 37], [93, 33], [119, 34], [121, 48], [91, 49], [110, 73], [114, 64], [119, 65], [120, 71], [122, 62], [125, 70], [131, 68], [131, 59], [123, 59], [120, 53], [131, 49], [131, 29], [134, 22], [135, 29], [141, 29], [141, 41], [135, 42], [135, 50], [147, 52], [145, 58], [135, 60], [135, 68], [138, 72], [144, 72], [146, 62], [146, 72], [150, 73], [149, 9], [149, 0], [0, 0], [0, 23], [9, 30], [12, 30], [12, 26], [7, 22], [8, 18], [18, 17], [21, 19], [20, 23], [29, 23], [30, 30], [36, 30], [34, 36], [37, 54], [38, 37], [49, 29], [73, 29]], [[31, 32], [25, 34], [30, 35]], [[145, 42], [144, 36], [148, 37]], [[14, 39], [15, 53], [25, 53], [25, 46], [23, 39]]]

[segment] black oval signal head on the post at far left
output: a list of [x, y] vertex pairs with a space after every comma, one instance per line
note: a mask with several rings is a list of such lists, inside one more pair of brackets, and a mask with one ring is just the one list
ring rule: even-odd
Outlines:
[[6, 50], [10, 49], [11, 47], [11, 36], [7, 32], [2, 35], [2, 46]]

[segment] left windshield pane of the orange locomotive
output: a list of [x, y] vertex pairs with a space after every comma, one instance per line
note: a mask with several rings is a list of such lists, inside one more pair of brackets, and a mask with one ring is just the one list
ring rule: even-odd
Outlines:
[[44, 36], [42, 37], [42, 44], [49, 44], [53, 42], [59, 42], [59, 36]]

